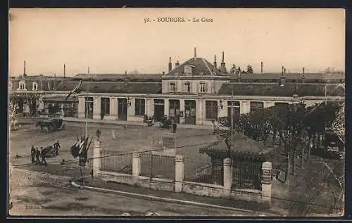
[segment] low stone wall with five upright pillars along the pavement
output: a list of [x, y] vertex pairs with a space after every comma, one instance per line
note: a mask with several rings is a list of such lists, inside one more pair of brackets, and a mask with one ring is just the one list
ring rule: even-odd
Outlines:
[[[94, 156], [101, 151], [101, 142], [94, 144]], [[175, 181], [172, 179], [161, 179], [141, 176], [141, 155], [134, 153], [132, 158], [132, 175], [117, 172], [106, 172], [100, 169], [100, 160], [93, 160], [94, 175], [98, 175], [103, 181], [115, 181], [120, 184], [140, 186], [160, 191], [175, 191], [190, 193], [198, 196], [215, 198], [227, 198], [233, 200], [246, 200], [256, 203], [271, 203], [271, 163], [263, 163], [262, 190], [232, 189], [232, 164], [229, 158], [224, 160], [224, 184], [205, 184], [184, 181], [184, 158], [175, 155]], [[118, 186], [117, 186], [118, 189]]]

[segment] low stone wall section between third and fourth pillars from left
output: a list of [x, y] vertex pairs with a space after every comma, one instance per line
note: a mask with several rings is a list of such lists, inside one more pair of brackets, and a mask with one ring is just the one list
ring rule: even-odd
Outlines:
[[224, 197], [224, 186], [216, 184], [203, 184], [189, 181], [182, 181], [182, 191], [200, 196], [208, 196], [214, 198]]

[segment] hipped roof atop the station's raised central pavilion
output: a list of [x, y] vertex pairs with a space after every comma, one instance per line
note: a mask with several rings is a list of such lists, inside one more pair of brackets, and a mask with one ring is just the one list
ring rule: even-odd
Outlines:
[[203, 76], [221, 76], [222, 73], [218, 68], [215, 68], [208, 60], [204, 58], [190, 58], [186, 62], [177, 66], [170, 72], [168, 72], [165, 76], [175, 76], [175, 75], [184, 75], [184, 67], [190, 65], [194, 67], [192, 70], [193, 76], [203, 75]]

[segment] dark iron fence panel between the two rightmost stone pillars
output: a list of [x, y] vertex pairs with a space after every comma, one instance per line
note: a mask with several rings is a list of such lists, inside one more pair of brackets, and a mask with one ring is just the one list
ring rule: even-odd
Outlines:
[[261, 190], [262, 163], [258, 160], [232, 161], [232, 188]]

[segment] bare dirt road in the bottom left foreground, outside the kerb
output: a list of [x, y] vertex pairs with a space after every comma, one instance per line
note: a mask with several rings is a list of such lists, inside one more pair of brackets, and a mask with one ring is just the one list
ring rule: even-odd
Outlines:
[[164, 216], [243, 214], [230, 210], [163, 203], [75, 189], [70, 187], [70, 179], [72, 178], [15, 168], [10, 178], [13, 201], [10, 215], [120, 216], [129, 213], [141, 216], [148, 212], [157, 212]]

